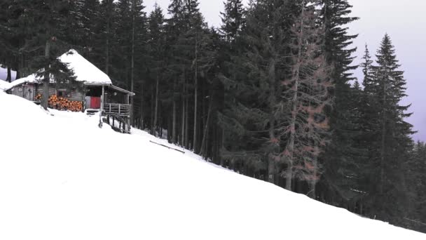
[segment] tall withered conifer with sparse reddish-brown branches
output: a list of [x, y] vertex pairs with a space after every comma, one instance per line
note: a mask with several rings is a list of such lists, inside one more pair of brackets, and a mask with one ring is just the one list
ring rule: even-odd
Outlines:
[[319, 14], [313, 4], [315, 1], [300, 1], [295, 5], [300, 9], [292, 27], [296, 44], [290, 45], [294, 53], [291, 78], [282, 83], [284, 119], [279, 122], [284, 124], [281, 138], [286, 142], [282, 154], [286, 189], [291, 190], [292, 179], [298, 177], [309, 183], [310, 196], [315, 198], [321, 169], [317, 158], [327, 144], [329, 120], [325, 109], [331, 106], [329, 91], [333, 85], [322, 54], [324, 32], [317, 26]]

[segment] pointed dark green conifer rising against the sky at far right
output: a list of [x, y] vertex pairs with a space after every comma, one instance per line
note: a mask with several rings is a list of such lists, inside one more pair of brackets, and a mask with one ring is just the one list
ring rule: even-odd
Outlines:
[[404, 175], [397, 169], [401, 169], [408, 157], [411, 149], [410, 135], [414, 132], [411, 124], [404, 121], [411, 116], [411, 113], [406, 113], [409, 105], [400, 105], [402, 98], [406, 97], [406, 81], [404, 72], [399, 70], [401, 66], [387, 34], [380, 44], [376, 58], [378, 65], [373, 67], [373, 74], [374, 84], [377, 86], [375, 95], [380, 107], [380, 152], [375, 210], [380, 218], [395, 220], [402, 211], [401, 206], [406, 204], [406, 193], [402, 190], [406, 187]]

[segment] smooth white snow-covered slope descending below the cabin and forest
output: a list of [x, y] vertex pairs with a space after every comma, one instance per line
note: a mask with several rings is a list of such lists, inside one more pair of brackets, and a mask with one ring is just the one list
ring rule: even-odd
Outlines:
[[0, 239], [426, 239], [0, 91]]

